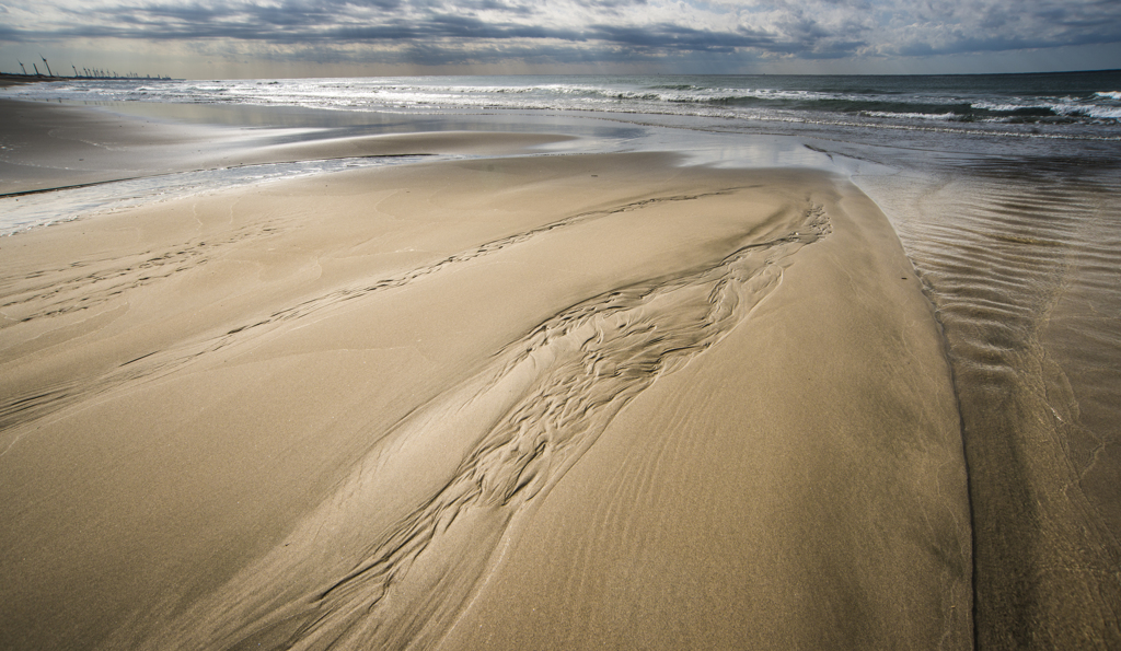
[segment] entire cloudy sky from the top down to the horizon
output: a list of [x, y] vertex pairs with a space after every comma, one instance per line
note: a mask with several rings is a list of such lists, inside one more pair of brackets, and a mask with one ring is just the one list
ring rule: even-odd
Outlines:
[[1121, 0], [0, 0], [0, 71], [175, 77], [1121, 67]]

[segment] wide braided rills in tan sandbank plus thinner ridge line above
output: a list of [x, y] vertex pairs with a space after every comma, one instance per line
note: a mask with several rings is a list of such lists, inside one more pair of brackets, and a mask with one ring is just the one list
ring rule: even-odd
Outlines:
[[[688, 198], [695, 197], [651, 201]], [[341, 290], [226, 337], [602, 214], [569, 217], [399, 278]], [[713, 266], [621, 287], [560, 311], [499, 352], [484, 371], [399, 422], [281, 545], [177, 616], [170, 615], [174, 604], [157, 608], [149, 616], [163, 623], [136, 622], [111, 645], [124, 639], [159, 649], [438, 642], [500, 562], [535, 497], [548, 492], [620, 409], [660, 374], [716, 344], [778, 287], [799, 249], [830, 232], [824, 210], [813, 206], [786, 234], [741, 242]], [[419, 500], [402, 503], [399, 489], [418, 468], [435, 483]]]

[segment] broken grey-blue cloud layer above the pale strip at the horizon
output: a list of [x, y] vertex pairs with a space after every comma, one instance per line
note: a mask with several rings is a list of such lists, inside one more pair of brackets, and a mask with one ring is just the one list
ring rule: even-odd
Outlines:
[[0, 7], [7, 11], [0, 43], [205, 41], [340, 58], [361, 48], [368, 59], [416, 56], [424, 65], [510, 57], [924, 57], [1121, 43], [1115, 0], [44, 0], [34, 11]]

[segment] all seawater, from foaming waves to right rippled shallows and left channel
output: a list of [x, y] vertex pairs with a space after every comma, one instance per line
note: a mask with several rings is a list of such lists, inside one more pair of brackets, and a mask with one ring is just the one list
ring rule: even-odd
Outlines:
[[[59, 81], [3, 96], [141, 114], [172, 104], [183, 121], [285, 138], [552, 131], [577, 140], [543, 152], [671, 150], [691, 164], [847, 176], [896, 227], [945, 334], [979, 647], [1082, 647], [1101, 622], [1119, 634], [1121, 71]], [[133, 179], [123, 194], [373, 164], [194, 170]], [[123, 188], [39, 194], [24, 202], [34, 211], [0, 198], [3, 226], [113, 210]]]

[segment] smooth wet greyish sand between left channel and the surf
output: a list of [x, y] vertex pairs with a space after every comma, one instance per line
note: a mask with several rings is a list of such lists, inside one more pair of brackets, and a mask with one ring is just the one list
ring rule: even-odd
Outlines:
[[[569, 139], [552, 133], [463, 132], [446, 127], [397, 133], [400, 119], [388, 121], [382, 133], [344, 138], [340, 136], [348, 131], [344, 128], [259, 128], [233, 108], [176, 109], [141, 105], [133, 108], [139, 115], [129, 115], [0, 96], [0, 196], [267, 162], [512, 154]], [[284, 112], [266, 114], [267, 124], [285, 120]]]

